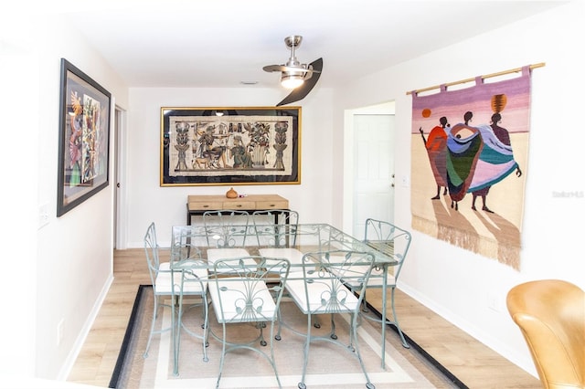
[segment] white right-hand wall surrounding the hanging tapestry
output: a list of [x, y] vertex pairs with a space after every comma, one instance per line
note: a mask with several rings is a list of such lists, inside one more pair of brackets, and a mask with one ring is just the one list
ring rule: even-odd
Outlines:
[[[396, 100], [396, 176], [410, 176], [407, 91], [546, 62], [546, 67], [533, 70], [532, 78], [521, 270], [415, 231], [399, 283], [400, 289], [533, 374], [527, 346], [505, 308], [507, 291], [526, 280], [548, 278], [567, 279], [585, 289], [580, 255], [585, 216], [581, 172], [585, 131], [580, 130], [580, 112], [585, 80], [579, 48], [585, 36], [584, 16], [583, 3], [572, 2], [335, 90], [335, 128], [343, 125], [344, 110]], [[489, 23], [481, 16], [477, 22]], [[449, 27], [449, 21], [444, 26]], [[378, 46], [383, 49], [383, 44]], [[343, 161], [342, 154], [334, 157], [335, 164]], [[341, 183], [335, 180], [334, 186]], [[577, 191], [580, 197], [553, 195], [561, 191]], [[397, 224], [410, 226], [410, 188], [397, 185], [395, 212]], [[497, 310], [487, 306], [492, 297]]]

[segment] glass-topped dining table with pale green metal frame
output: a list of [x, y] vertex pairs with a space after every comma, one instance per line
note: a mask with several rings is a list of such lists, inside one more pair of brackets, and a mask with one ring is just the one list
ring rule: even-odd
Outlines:
[[[284, 251], [282, 251], [284, 250]], [[382, 307], [380, 321], [387, 321], [387, 277], [388, 267], [397, 265], [380, 247], [369, 246], [356, 237], [328, 224], [278, 225], [267, 220], [265, 224], [190, 225], [173, 226], [171, 244], [171, 268], [184, 270], [189, 259], [197, 259], [197, 266], [213, 269], [213, 262], [219, 258], [246, 256], [278, 257], [282, 253], [291, 258], [291, 271], [301, 270], [303, 254], [352, 250], [372, 253], [375, 267], [382, 268], [374, 276], [382, 278]], [[302, 274], [302, 272], [301, 272]], [[211, 301], [213, 303], [213, 301]], [[180, 325], [180, 323], [179, 323]], [[381, 326], [381, 363], [386, 367], [386, 325]], [[180, 330], [180, 329], [179, 329]], [[178, 332], [178, 331], [176, 331]]]

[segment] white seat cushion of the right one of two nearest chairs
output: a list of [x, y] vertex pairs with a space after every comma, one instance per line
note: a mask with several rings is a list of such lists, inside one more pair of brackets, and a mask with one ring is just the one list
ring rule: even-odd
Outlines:
[[[289, 279], [284, 285], [303, 313], [341, 313], [356, 310], [358, 303], [356, 296], [341, 282], [317, 277], [313, 280], [314, 282], [306, 282], [304, 279]], [[305, 284], [307, 293], [304, 289]], [[335, 293], [332, 293], [332, 290]]]

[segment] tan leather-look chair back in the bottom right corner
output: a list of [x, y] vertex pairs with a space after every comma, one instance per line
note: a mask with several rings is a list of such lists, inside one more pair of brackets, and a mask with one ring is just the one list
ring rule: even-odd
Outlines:
[[507, 307], [546, 389], [585, 388], [585, 293], [559, 279], [510, 289]]

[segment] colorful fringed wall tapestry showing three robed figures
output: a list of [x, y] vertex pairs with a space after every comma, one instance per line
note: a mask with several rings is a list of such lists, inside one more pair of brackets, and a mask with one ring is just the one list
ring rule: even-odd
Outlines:
[[519, 269], [530, 68], [421, 94], [412, 92], [412, 227]]

